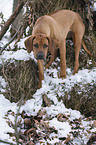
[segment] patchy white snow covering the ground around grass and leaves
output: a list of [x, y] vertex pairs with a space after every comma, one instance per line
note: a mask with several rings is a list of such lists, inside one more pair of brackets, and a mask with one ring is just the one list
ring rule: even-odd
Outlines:
[[[6, 3], [6, 8], [5, 8]], [[3, 0], [0, 4], [0, 11], [4, 13], [5, 19], [8, 18], [12, 11], [12, 0]], [[3, 39], [3, 43], [5, 44], [7, 42], [6, 39]], [[11, 44], [14, 45], [14, 42]], [[18, 46], [20, 48], [25, 48], [24, 46], [24, 39], [22, 39]], [[16, 52], [13, 51], [4, 51], [2, 55], [0, 55], [0, 64], [3, 64], [8, 59], [15, 59], [15, 60], [28, 60], [28, 59], [34, 59], [33, 52], [28, 54], [26, 50], [20, 49]], [[35, 60], [36, 61], [36, 60]], [[76, 83], [82, 82], [83, 84], [92, 83], [93, 80], [96, 83], [96, 67], [94, 67], [91, 70], [83, 69], [79, 70], [79, 72], [76, 75], [72, 75], [72, 72], [70, 68], [67, 68], [67, 78], [62, 80], [58, 79], [57, 77], [57, 69], [50, 68], [50, 73], [53, 72], [54, 78], [48, 76], [49, 70], [46, 70], [44, 72], [44, 81], [42, 88], [37, 90], [37, 92], [33, 95], [33, 98], [26, 101], [24, 105], [21, 106], [20, 112], [25, 110], [26, 113], [29, 115], [37, 115], [39, 110], [46, 110], [46, 113], [53, 117], [52, 120], [49, 120], [48, 123], [50, 126], [55, 127], [55, 129], [58, 130], [58, 135], [51, 134], [51, 138], [53, 137], [53, 140], [50, 140], [50, 144], [55, 144], [56, 142], [59, 142], [60, 137], [68, 137], [70, 136], [73, 138], [72, 134], [72, 126], [69, 124], [70, 121], [73, 121], [74, 119], [81, 119], [81, 128], [79, 130], [81, 137], [73, 139], [73, 144], [81, 145], [86, 144], [89, 137], [92, 133], [96, 132], [96, 126], [94, 126], [94, 120], [88, 121], [84, 116], [80, 114], [77, 110], [68, 109], [65, 107], [62, 101], [58, 101], [56, 97], [56, 92], [58, 91], [58, 94], [64, 95], [64, 92], [62, 92], [61, 84], [65, 84], [65, 91], [71, 90], [71, 88]], [[47, 81], [46, 81], [47, 80]], [[49, 85], [51, 83], [51, 85]], [[17, 103], [11, 103], [9, 100], [7, 100], [3, 92], [6, 88], [6, 82], [0, 76], [0, 139], [2, 140], [8, 140], [12, 142], [12, 138], [7, 134], [7, 132], [14, 132], [14, 130], [9, 127], [8, 123], [6, 122], [6, 113], [8, 110], [12, 110], [13, 112], [17, 112]], [[55, 86], [55, 87], [54, 87]], [[51, 99], [54, 102], [54, 105], [51, 105], [50, 107], [42, 107], [42, 94], [48, 95], [48, 98]], [[58, 114], [65, 114], [68, 116], [68, 121], [66, 122], [59, 122], [54, 116]], [[9, 116], [10, 120], [14, 122], [14, 117], [12, 115]], [[92, 127], [94, 126], [94, 127]], [[0, 143], [1, 145], [3, 143]], [[45, 142], [46, 144], [46, 142]], [[39, 145], [39, 144], [38, 144]]]

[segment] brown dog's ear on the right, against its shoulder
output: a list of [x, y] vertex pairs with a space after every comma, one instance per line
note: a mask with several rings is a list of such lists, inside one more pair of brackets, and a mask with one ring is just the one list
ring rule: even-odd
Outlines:
[[54, 49], [57, 48], [56, 40], [52, 39], [50, 36], [46, 38], [48, 39], [48, 43], [49, 43], [49, 52], [52, 54]]

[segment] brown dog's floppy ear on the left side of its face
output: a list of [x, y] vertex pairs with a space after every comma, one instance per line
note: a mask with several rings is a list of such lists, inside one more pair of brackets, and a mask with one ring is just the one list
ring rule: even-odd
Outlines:
[[24, 44], [27, 48], [27, 52], [30, 53], [33, 50], [33, 40], [36, 38], [36, 36], [30, 36], [24, 41]]

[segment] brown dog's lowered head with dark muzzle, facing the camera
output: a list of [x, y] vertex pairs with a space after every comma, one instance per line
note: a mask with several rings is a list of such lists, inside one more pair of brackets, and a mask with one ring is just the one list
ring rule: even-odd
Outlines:
[[49, 37], [43, 35], [36, 35], [30, 36], [24, 43], [28, 53], [33, 51], [37, 60], [45, 60], [49, 48], [49, 39]]

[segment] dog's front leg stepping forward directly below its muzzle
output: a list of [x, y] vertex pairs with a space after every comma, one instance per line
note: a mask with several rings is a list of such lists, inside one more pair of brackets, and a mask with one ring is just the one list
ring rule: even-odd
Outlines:
[[42, 80], [44, 80], [44, 60], [38, 60], [38, 69], [39, 69], [39, 84], [38, 84], [38, 89], [40, 89], [42, 87]]

